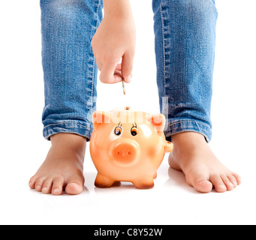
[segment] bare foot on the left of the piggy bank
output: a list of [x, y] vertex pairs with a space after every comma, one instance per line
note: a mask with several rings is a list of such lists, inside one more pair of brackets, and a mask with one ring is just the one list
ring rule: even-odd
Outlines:
[[61, 195], [62, 190], [70, 195], [81, 193], [86, 138], [73, 133], [59, 133], [51, 136], [51, 142], [47, 158], [30, 179], [29, 187], [53, 195]]

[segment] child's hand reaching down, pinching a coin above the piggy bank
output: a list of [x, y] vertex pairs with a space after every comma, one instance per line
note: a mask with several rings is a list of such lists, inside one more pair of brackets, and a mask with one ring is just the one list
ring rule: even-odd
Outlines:
[[122, 78], [129, 83], [135, 52], [134, 19], [128, 1], [126, 6], [125, 1], [113, 1], [115, 5], [110, 6], [111, 1], [104, 1], [104, 20], [92, 38], [92, 49], [102, 83], [119, 83]]

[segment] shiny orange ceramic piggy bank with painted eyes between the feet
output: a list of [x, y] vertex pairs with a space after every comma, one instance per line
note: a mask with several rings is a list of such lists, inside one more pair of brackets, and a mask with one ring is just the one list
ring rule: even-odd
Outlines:
[[162, 114], [123, 110], [96, 111], [90, 142], [92, 161], [98, 170], [96, 187], [111, 187], [115, 181], [131, 181], [135, 187], [154, 187], [164, 153], [173, 144], [164, 136]]

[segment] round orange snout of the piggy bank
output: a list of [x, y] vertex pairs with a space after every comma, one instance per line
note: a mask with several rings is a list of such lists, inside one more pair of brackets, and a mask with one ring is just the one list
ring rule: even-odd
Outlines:
[[137, 160], [138, 151], [137, 142], [118, 142], [112, 149], [113, 160], [127, 166]]

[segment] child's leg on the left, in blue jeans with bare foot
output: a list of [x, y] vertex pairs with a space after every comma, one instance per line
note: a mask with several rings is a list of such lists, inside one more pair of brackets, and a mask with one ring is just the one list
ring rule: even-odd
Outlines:
[[29, 185], [44, 193], [83, 190], [83, 157], [92, 133], [98, 68], [91, 40], [101, 0], [41, 0], [44, 137], [52, 148]]

